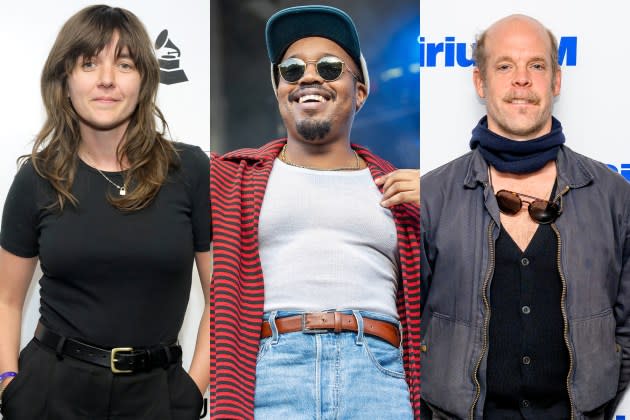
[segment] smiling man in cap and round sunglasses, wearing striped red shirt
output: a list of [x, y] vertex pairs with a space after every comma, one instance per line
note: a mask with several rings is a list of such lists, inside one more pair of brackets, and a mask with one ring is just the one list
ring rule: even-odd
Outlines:
[[287, 138], [211, 162], [211, 416], [418, 418], [417, 172], [350, 143], [345, 12], [281, 10], [266, 40]]

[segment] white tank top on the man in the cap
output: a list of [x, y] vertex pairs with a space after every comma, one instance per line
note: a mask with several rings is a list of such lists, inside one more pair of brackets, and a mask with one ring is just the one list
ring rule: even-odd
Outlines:
[[398, 319], [398, 243], [369, 169], [276, 159], [258, 227], [265, 311], [359, 309]]

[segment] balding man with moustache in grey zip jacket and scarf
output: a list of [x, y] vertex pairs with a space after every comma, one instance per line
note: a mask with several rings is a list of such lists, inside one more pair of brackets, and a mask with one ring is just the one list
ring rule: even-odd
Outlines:
[[557, 51], [484, 31], [472, 151], [422, 178], [427, 418], [609, 418], [630, 379], [630, 184], [564, 145]]

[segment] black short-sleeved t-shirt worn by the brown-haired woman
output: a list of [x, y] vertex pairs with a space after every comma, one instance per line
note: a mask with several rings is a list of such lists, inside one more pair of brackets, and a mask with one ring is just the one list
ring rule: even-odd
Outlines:
[[[39, 256], [41, 321], [99, 346], [151, 346], [177, 339], [190, 294], [195, 252], [210, 249], [208, 156], [175, 143], [180, 166], [149, 207], [121, 212], [118, 193], [80, 161], [72, 193], [79, 204], [46, 207], [56, 197], [30, 162], [18, 171], [4, 206], [0, 245]], [[122, 174], [105, 172], [122, 185]]]

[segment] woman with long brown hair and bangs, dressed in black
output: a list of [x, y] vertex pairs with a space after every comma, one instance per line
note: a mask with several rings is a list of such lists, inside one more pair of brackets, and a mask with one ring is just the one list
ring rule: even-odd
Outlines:
[[[127, 10], [87, 7], [41, 78], [46, 121], [0, 231], [0, 401], [11, 419], [198, 419], [208, 316], [190, 374], [177, 336], [193, 260], [210, 279], [209, 161], [165, 138], [159, 66]], [[19, 355], [37, 261], [35, 338]]]

